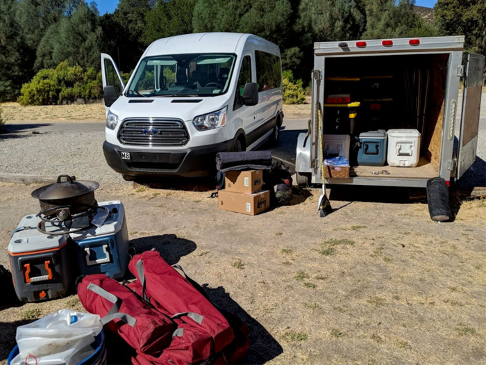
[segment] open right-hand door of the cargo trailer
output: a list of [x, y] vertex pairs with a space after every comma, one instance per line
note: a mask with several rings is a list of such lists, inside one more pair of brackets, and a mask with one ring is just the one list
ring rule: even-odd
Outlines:
[[459, 179], [471, 167], [474, 161], [476, 161], [484, 72], [485, 56], [468, 54], [466, 72], [464, 74], [464, 94], [462, 96], [458, 172], [456, 179]]

